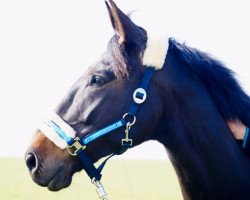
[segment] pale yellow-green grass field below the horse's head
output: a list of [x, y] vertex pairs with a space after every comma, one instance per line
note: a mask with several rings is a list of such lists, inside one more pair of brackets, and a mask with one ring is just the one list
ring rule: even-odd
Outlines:
[[[169, 161], [111, 160], [103, 172], [110, 200], [182, 199]], [[94, 186], [84, 172], [71, 186], [49, 192], [32, 182], [21, 158], [0, 158], [0, 200], [97, 200]]]

